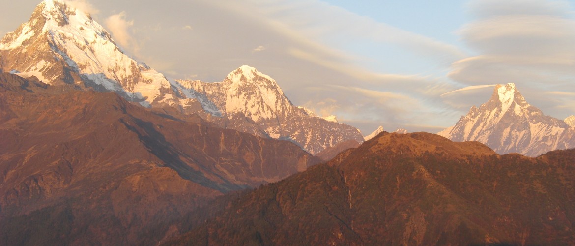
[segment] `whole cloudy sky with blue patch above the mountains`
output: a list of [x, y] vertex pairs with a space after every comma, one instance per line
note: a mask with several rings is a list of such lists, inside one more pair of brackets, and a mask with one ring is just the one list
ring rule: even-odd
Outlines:
[[[68, 2], [168, 78], [252, 66], [294, 105], [364, 135], [437, 133], [509, 82], [546, 115], [575, 115], [575, 0]], [[0, 36], [39, 3], [0, 0]]]

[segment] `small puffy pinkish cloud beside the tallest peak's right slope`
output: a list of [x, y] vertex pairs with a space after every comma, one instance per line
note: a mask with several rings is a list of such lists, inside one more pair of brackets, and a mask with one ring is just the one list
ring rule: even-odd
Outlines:
[[126, 12], [122, 11], [119, 14], [114, 14], [106, 18], [105, 24], [108, 30], [112, 33], [114, 40], [134, 55], [139, 55], [140, 45], [131, 34], [131, 28], [134, 25], [133, 20], [126, 20]]

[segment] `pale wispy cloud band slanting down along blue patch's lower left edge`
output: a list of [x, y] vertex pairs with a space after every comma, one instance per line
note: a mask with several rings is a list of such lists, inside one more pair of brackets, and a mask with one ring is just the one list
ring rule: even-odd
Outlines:
[[[345, 51], [350, 43], [380, 48], [389, 45], [401, 47], [405, 52], [445, 66], [466, 56], [465, 52], [451, 44], [407, 32], [317, 0], [277, 0], [273, 3], [223, 0], [209, 1], [209, 4], [267, 25], [298, 44], [290, 48], [305, 52], [309, 57], [326, 58], [339, 67], [346, 67], [353, 62], [369, 62], [363, 56]], [[302, 53], [292, 50], [290, 54]], [[319, 65], [325, 64], [320, 62]]]

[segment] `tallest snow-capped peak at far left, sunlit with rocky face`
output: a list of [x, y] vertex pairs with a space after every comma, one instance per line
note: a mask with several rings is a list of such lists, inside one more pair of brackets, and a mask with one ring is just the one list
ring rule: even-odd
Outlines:
[[41, 2], [28, 22], [4, 37], [0, 52], [3, 69], [21, 77], [113, 91], [146, 106], [181, 103], [165, 95], [171, 86], [163, 74], [130, 58], [89, 14], [61, 0]]

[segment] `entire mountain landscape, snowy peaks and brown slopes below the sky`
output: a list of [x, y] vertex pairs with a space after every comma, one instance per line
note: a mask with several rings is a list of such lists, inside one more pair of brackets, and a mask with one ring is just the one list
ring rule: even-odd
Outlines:
[[254, 67], [166, 78], [44, 0], [0, 41], [0, 245], [572, 245], [574, 125], [507, 84], [439, 135], [363, 137]]

